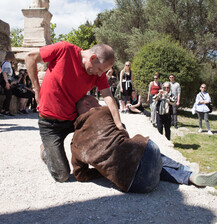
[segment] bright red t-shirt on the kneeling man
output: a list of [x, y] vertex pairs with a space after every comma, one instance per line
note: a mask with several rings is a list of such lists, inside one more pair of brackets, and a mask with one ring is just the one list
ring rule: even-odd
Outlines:
[[109, 88], [106, 74], [88, 75], [81, 66], [81, 49], [66, 41], [40, 48], [49, 62], [39, 96], [39, 113], [60, 120], [74, 120], [76, 102], [94, 86]]

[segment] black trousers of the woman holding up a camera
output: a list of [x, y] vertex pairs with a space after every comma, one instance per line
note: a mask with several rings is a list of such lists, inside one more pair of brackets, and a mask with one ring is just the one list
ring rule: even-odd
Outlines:
[[158, 131], [163, 134], [163, 128], [165, 130], [165, 136], [168, 140], [170, 140], [170, 127], [171, 127], [171, 115], [170, 114], [164, 114], [160, 115], [157, 114], [157, 129]]

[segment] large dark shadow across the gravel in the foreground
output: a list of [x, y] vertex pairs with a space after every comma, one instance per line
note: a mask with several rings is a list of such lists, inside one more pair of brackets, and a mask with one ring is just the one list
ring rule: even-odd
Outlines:
[[[101, 180], [102, 181], [102, 180]], [[184, 203], [178, 185], [161, 182], [149, 194], [122, 194], [0, 215], [1, 224], [25, 223], [213, 223], [208, 209]]]

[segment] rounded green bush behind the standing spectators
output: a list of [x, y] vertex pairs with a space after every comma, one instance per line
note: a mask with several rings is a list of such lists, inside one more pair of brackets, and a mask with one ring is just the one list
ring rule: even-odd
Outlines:
[[134, 85], [142, 95], [148, 92], [154, 73], [159, 72], [161, 82], [168, 81], [169, 74], [176, 76], [182, 88], [182, 106], [194, 101], [200, 67], [196, 57], [170, 37], [146, 44], [134, 57], [132, 71]]

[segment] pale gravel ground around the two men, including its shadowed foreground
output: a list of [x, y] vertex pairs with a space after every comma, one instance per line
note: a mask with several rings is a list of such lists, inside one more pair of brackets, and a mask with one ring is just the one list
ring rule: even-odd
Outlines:
[[[144, 115], [121, 114], [130, 136], [150, 136], [161, 152], [190, 163]], [[65, 141], [70, 160], [69, 135]], [[0, 223], [217, 223], [217, 191], [160, 182], [149, 194], [120, 192], [104, 178], [55, 182], [40, 159], [37, 114], [0, 118]]]

